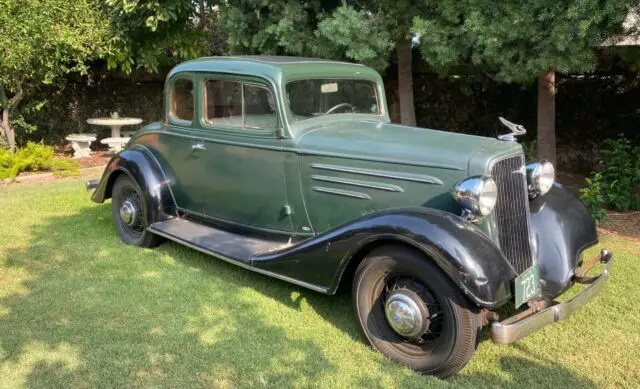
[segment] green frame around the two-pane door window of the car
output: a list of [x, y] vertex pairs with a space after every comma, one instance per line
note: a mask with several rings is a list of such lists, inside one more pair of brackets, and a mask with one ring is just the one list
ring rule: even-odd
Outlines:
[[[282, 132], [282, 117], [279, 108], [279, 103], [277, 100], [277, 93], [275, 93], [274, 88], [266, 81], [261, 80], [258, 77], [242, 77], [239, 75], [229, 75], [222, 73], [203, 73], [198, 75], [197, 86], [198, 86], [198, 96], [200, 98], [200, 102], [198, 104], [199, 111], [199, 124], [200, 128], [204, 131], [208, 132], [218, 132], [218, 133], [227, 133], [234, 135], [244, 135], [248, 137], [260, 137], [260, 138], [275, 138], [279, 137]], [[209, 80], [220, 80], [220, 81], [232, 81], [238, 82], [241, 86], [241, 94], [242, 94], [242, 126], [230, 126], [223, 124], [211, 124], [209, 120], [206, 118], [206, 104], [207, 104], [207, 96], [206, 96], [206, 82]], [[271, 96], [274, 98], [275, 103], [275, 115], [276, 115], [276, 125], [270, 129], [264, 129], [259, 127], [246, 127], [246, 116], [245, 116], [245, 102], [244, 102], [244, 85], [257, 86], [266, 89]]]

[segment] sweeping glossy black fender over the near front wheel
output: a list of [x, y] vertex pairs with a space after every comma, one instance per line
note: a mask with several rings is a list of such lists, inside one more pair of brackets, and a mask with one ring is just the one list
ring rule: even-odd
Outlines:
[[371, 213], [284, 250], [259, 255], [252, 265], [333, 294], [349, 261], [380, 241], [420, 250], [478, 306], [494, 308], [511, 297], [510, 281], [516, 272], [500, 249], [474, 225], [431, 208]]

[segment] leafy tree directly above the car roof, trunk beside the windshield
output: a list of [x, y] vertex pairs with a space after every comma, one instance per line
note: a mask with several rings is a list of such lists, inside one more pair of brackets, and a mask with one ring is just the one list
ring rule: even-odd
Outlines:
[[395, 51], [401, 122], [415, 125], [410, 29], [420, 8], [410, 0], [231, 0], [222, 12], [235, 53], [349, 59], [383, 70]]

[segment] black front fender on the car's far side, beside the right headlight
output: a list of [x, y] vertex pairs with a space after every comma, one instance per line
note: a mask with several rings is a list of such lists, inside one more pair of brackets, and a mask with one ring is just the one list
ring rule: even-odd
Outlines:
[[530, 210], [542, 295], [553, 299], [572, 285], [582, 251], [598, 243], [596, 225], [582, 202], [558, 183], [531, 200]]

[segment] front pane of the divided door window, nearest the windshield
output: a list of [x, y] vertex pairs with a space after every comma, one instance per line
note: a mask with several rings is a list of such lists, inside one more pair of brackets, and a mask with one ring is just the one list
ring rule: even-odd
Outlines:
[[244, 85], [244, 126], [274, 129], [278, 124], [276, 104], [271, 91], [258, 85]]

